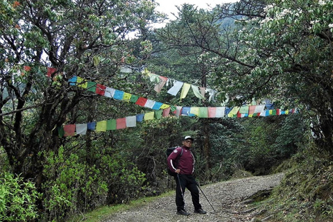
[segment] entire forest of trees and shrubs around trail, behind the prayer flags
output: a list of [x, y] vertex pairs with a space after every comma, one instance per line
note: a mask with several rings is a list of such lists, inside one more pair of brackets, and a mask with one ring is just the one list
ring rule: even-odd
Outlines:
[[[283, 212], [280, 221], [332, 219], [333, 2], [244, 0], [211, 10], [184, 4], [164, 28], [153, 28], [166, 19], [155, 8], [144, 0], [1, 1], [0, 221], [66, 221], [162, 194], [173, 187], [165, 149], [185, 135], [196, 139], [201, 184], [288, 170], [271, 203]], [[146, 70], [217, 94], [157, 94]], [[61, 137], [66, 124], [147, 112], [71, 85], [73, 76], [169, 105], [269, 99], [298, 113], [171, 114]]]

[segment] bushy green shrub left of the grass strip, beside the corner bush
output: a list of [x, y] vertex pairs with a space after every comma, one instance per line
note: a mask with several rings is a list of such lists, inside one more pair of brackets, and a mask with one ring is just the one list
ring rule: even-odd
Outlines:
[[61, 221], [68, 213], [86, 211], [105, 203], [108, 185], [101, 171], [80, 163], [74, 153], [66, 155], [62, 147], [58, 153], [46, 155], [44, 176], [44, 220]]

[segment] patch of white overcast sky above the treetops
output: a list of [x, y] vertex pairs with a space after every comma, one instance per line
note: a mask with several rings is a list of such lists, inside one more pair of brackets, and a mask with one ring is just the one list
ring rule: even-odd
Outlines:
[[[177, 15], [178, 10], [176, 6], [181, 6], [183, 3], [189, 3], [198, 6], [198, 8], [209, 9], [216, 6], [216, 4], [231, 3], [237, 0], [156, 0], [160, 6], [157, 6], [156, 10], [164, 12], [169, 16], [169, 19], [175, 19], [171, 12]], [[207, 6], [210, 5], [210, 6]]]

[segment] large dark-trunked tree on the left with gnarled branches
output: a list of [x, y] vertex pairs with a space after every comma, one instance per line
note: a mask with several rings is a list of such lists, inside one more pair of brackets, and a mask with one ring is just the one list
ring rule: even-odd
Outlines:
[[80, 101], [97, 98], [67, 81], [116, 82], [121, 58], [134, 61], [126, 36], [157, 19], [154, 7], [131, 0], [0, 3], [0, 142], [14, 173], [41, 189], [44, 151], [67, 141], [58, 127], [74, 123]]

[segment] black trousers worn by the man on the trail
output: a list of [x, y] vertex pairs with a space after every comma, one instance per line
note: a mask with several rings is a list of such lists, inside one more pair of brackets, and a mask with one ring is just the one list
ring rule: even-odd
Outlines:
[[[179, 180], [178, 180], [179, 176]], [[177, 210], [185, 210], [185, 202], [184, 202], [184, 192], [185, 188], [187, 188], [191, 192], [192, 196], [192, 203], [194, 205], [194, 209], [200, 209], [201, 205], [199, 202], [199, 189], [196, 185], [196, 179], [194, 176], [191, 175], [185, 175], [185, 174], [178, 174], [178, 176], [175, 176], [176, 179], [176, 205]], [[180, 184], [179, 184], [180, 182]], [[180, 189], [180, 187], [182, 189]]]

